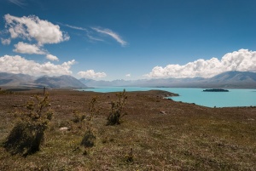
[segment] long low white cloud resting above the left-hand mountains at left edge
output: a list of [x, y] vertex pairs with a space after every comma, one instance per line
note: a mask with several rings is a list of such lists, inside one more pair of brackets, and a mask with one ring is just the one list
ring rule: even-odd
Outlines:
[[39, 64], [33, 60], [26, 60], [19, 55], [0, 57], [0, 72], [23, 73], [32, 76], [56, 76], [70, 75], [71, 66], [75, 64], [75, 60], [64, 62], [61, 65], [54, 65], [50, 62]]

